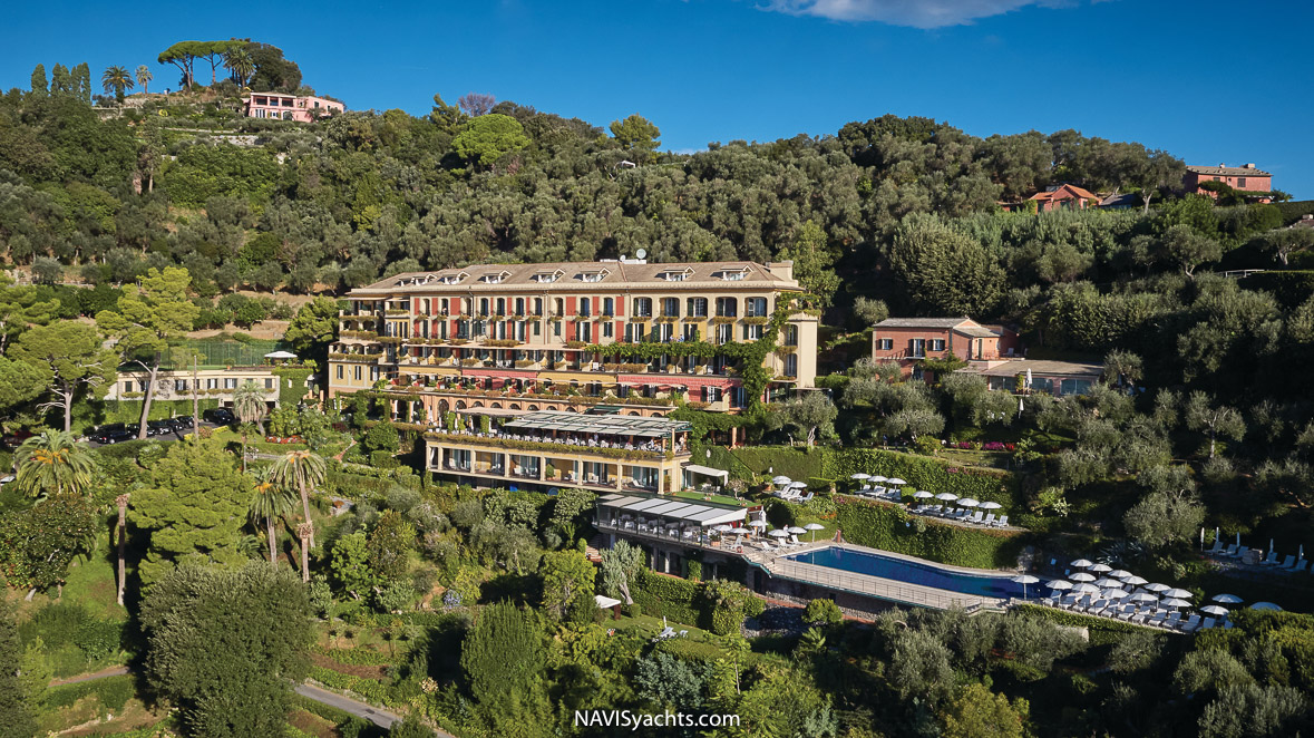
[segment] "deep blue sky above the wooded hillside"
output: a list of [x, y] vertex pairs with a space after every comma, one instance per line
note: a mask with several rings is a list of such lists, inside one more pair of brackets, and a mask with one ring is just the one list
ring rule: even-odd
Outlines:
[[[201, 8], [205, 8], [204, 11]], [[664, 147], [834, 133], [884, 113], [988, 135], [1075, 128], [1188, 163], [1255, 162], [1314, 197], [1306, 3], [1214, 0], [503, 0], [22, 3], [0, 87], [43, 62], [155, 64], [173, 41], [251, 37], [350, 108], [495, 95], [597, 125], [640, 113]], [[198, 76], [205, 72], [198, 70]]]

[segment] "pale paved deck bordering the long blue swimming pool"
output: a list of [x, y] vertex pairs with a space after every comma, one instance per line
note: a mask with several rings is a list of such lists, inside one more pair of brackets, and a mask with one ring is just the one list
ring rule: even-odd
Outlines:
[[937, 568], [943, 568], [945, 571], [953, 571], [957, 574], [970, 574], [978, 576], [1005, 575], [1005, 572], [941, 564], [937, 562], [929, 562], [915, 556], [905, 556], [903, 554], [882, 551], [880, 549], [867, 549], [863, 546], [854, 546], [853, 543], [834, 543], [832, 541], [825, 541], [825, 542], [817, 541], [816, 543], [809, 543], [807, 546], [799, 546], [795, 549], [777, 550], [777, 551], [753, 550], [752, 553], [749, 553], [748, 550], [745, 550], [744, 558], [746, 558], [749, 563], [761, 567], [773, 578], [788, 579], [803, 584], [824, 587], [827, 589], [840, 589], [844, 592], [851, 592], [854, 595], [862, 595], [865, 597], [875, 597], [878, 600], [884, 600], [900, 605], [913, 605], [918, 608], [930, 608], [937, 610], [964, 609], [968, 612], [976, 612], [976, 610], [1000, 610], [1004, 608], [1004, 604], [1007, 603], [1007, 600], [997, 597], [986, 597], [982, 595], [964, 595], [962, 592], [953, 592], [950, 589], [924, 587], [921, 584], [909, 584], [894, 579], [884, 579], [880, 576], [871, 576], [867, 574], [854, 574], [849, 571], [841, 571], [816, 564], [807, 564], [803, 562], [794, 562], [788, 559], [788, 556], [807, 554], [811, 551], [817, 551], [828, 547], [848, 549], [851, 551], [858, 551], [865, 554], [875, 554], [880, 556], [901, 559], [905, 562], [917, 563], [922, 566], [933, 566]]

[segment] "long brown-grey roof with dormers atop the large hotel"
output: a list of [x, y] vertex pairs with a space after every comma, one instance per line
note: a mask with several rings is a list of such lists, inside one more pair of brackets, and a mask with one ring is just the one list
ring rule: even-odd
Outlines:
[[591, 284], [650, 284], [683, 287], [756, 284], [798, 289], [799, 283], [784, 279], [771, 267], [791, 267], [791, 262], [758, 264], [753, 262], [640, 263], [635, 259], [604, 262], [553, 262], [535, 264], [480, 264], [435, 271], [405, 272], [352, 289], [348, 296], [430, 292], [442, 288], [505, 289], [506, 287], [579, 287]]

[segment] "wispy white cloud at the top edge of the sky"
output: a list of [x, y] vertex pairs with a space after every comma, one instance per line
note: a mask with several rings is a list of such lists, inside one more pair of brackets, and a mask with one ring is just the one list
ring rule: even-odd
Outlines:
[[921, 29], [970, 24], [1038, 5], [1070, 7], [1070, 0], [765, 0], [759, 8], [791, 16], [816, 16], [833, 21], [878, 21]]

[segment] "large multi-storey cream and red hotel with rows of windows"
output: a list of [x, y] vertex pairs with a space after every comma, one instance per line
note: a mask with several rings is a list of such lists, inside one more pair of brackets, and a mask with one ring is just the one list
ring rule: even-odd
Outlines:
[[[394, 421], [447, 431], [452, 413], [461, 416], [456, 430], [474, 431], [491, 430], [485, 418], [502, 425], [541, 412], [665, 417], [677, 400], [738, 412], [749, 404], [745, 367], [741, 347], [729, 346], [763, 338], [778, 301], [802, 291], [792, 271], [792, 262], [620, 259], [392, 276], [347, 295], [328, 396], [385, 380]], [[817, 317], [790, 300], [762, 359], [762, 400], [812, 387], [816, 376]], [[472, 414], [482, 416], [478, 428]], [[427, 456], [438, 459], [434, 471], [456, 471], [444, 468], [451, 454], [434, 456], [436, 447]]]

